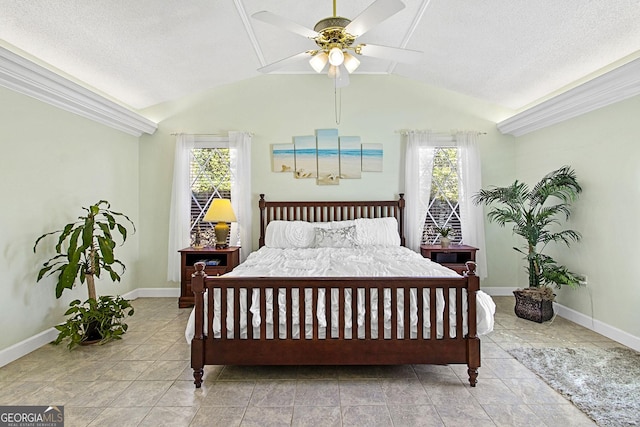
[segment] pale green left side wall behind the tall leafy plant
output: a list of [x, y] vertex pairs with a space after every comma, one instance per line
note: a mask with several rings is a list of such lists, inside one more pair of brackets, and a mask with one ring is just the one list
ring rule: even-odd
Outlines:
[[[55, 239], [33, 253], [41, 234], [101, 199], [138, 221], [138, 138], [0, 87], [0, 350], [64, 320], [78, 286], [55, 298], [55, 279], [36, 283]], [[119, 252], [123, 280], [97, 283], [98, 293], [135, 289], [138, 235]]]

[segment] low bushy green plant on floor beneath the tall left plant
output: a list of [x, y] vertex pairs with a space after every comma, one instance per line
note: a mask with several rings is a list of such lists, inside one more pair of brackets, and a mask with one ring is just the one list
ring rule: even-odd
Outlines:
[[83, 342], [105, 343], [121, 339], [128, 329], [124, 318], [134, 312], [129, 301], [120, 296], [102, 296], [98, 300], [89, 298], [83, 303], [74, 300], [69, 306], [65, 316], [70, 317], [56, 326], [58, 337], [53, 342], [60, 344], [69, 339], [69, 350]]

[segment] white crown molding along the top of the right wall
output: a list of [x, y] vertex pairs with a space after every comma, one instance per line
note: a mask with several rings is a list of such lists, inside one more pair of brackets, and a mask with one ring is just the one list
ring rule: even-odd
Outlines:
[[640, 59], [576, 86], [498, 123], [503, 134], [522, 136], [640, 94]]

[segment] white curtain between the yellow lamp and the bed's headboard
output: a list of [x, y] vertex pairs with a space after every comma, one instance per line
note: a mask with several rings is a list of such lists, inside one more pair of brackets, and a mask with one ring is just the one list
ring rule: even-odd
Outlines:
[[231, 205], [238, 219], [231, 224], [230, 244], [241, 246], [243, 262], [253, 246], [252, 193], [251, 193], [251, 134], [229, 132], [229, 159], [231, 163]]

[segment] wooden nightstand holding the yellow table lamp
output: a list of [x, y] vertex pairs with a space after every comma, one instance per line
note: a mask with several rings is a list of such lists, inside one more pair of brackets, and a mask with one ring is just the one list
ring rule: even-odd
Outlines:
[[230, 246], [225, 249], [216, 248], [185, 248], [180, 249], [180, 298], [178, 307], [190, 307], [195, 303], [191, 290], [191, 275], [196, 269], [193, 266], [198, 261], [207, 263], [204, 268], [209, 276], [219, 276], [228, 273], [240, 264], [240, 247]]

